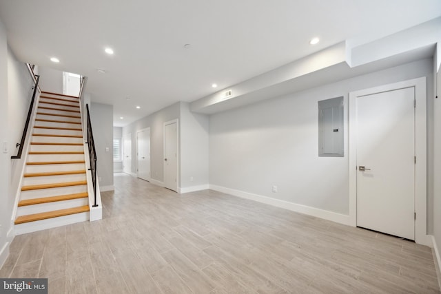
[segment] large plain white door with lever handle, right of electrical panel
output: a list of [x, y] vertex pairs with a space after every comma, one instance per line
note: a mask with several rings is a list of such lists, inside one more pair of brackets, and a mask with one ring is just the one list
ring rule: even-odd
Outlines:
[[360, 96], [357, 226], [415, 240], [414, 87]]

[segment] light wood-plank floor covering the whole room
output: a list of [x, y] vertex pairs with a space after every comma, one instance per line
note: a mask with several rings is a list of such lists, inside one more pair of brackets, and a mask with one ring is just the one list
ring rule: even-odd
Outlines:
[[205, 190], [114, 178], [103, 220], [14, 238], [50, 293], [440, 293], [431, 249]]

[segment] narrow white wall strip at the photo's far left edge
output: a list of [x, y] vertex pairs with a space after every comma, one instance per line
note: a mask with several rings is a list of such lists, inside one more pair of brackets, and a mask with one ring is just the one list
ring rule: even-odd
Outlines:
[[9, 254], [7, 238], [10, 229], [12, 214], [10, 189], [10, 154], [3, 153], [3, 143], [9, 142], [8, 134], [8, 43], [6, 42], [6, 28], [0, 20], [0, 266], [3, 265]]

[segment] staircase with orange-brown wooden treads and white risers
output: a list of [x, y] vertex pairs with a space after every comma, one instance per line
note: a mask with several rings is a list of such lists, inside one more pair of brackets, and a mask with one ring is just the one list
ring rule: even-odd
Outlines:
[[16, 234], [89, 220], [79, 98], [41, 92], [15, 220]]

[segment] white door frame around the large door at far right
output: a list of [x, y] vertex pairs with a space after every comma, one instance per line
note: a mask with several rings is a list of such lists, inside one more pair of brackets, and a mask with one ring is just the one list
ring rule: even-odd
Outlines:
[[414, 87], [415, 108], [415, 242], [431, 246], [427, 235], [427, 114], [426, 77], [398, 83], [371, 87], [349, 93], [349, 224], [357, 225], [357, 112], [356, 101], [360, 96]]

